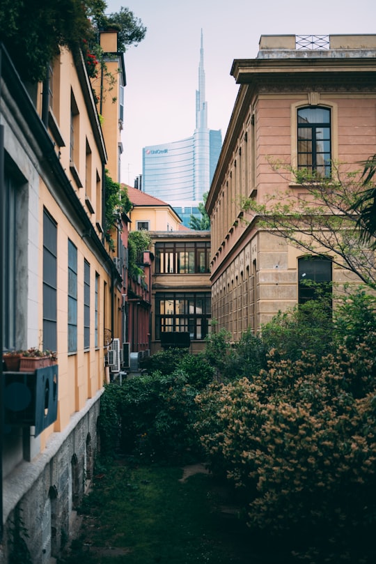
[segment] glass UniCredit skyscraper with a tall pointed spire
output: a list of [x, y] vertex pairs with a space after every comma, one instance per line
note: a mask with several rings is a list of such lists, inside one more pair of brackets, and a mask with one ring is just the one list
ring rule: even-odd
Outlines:
[[143, 148], [143, 191], [171, 204], [188, 226], [191, 213], [199, 215], [198, 202], [210, 189], [221, 144], [221, 130], [207, 128], [201, 30], [194, 134], [180, 141]]

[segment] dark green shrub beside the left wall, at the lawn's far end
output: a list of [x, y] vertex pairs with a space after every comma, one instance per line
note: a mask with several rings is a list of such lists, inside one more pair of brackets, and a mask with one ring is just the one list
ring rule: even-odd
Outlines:
[[155, 372], [137, 376], [122, 386], [107, 386], [102, 396], [106, 406], [104, 420], [102, 413], [100, 416], [104, 440], [107, 441], [107, 405], [112, 404], [116, 425], [110, 422], [109, 436], [116, 429], [123, 452], [148, 460], [184, 457], [198, 448], [192, 429], [196, 394], [187, 375], [179, 370], [169, 375]]

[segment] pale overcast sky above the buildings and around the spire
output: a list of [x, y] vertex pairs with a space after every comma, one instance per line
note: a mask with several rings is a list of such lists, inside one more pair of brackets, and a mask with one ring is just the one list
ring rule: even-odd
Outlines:
[[234, 59], [253, 59], [262, 35], [376, 33], [375, 0], [107, 0], [146, 26], [125, 52], [125, 123], [120, 181], [142, 174], [144, 146], [191, 137], [203, 30], [207, 126], [226, 135], [239, 86]]

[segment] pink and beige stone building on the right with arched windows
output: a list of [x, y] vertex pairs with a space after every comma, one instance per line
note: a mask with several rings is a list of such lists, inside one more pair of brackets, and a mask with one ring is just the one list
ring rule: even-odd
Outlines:
[[[308, 49], [301, 49], [309, 47]], [[240, 84], [206, 209], [212, 233], [212, 317], [237, 340], [303, 301], [301, 277], [357, 282], [340, 264], [289, 245], [246, 215], [242, 198], [304, 190], [270, 159], [328, 178], [375, 153], [376, 36], [262, 36], [256, 59], [235, 60]], [[246, 219], [246, 221], [244, 221]]]

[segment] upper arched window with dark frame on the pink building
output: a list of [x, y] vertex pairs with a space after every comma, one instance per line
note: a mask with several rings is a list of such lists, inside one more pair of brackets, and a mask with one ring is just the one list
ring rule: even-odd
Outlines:
[[331, 111], [310, 106], [297, 110], [297, 167], [322, 178], [331, 176]]

